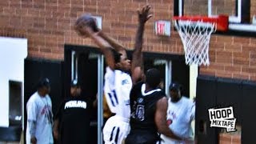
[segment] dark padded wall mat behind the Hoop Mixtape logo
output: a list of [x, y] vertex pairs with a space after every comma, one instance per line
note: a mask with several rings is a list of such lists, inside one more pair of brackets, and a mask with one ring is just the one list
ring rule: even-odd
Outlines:
[[[242, 143], [255, 143], [256, 82], [199, 75], [197, 80], [196, 130], [198, 143], [218, 143], [221, 129], [210, 127], [208, 109], [233, 106], [236, 125], [242, 127]], [[206, 120], [206, 123], [204, 121]], [[206, 132], [204, 126], [206, 124]]]

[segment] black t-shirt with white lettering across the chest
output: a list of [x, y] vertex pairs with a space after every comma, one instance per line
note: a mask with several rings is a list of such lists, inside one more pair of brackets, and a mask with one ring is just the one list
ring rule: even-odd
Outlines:
[[85, 97], [70, 97], [62, 102], [56, 114], [60, 123], [60, 143], [88, 143], [92, 107], [92, 101]]

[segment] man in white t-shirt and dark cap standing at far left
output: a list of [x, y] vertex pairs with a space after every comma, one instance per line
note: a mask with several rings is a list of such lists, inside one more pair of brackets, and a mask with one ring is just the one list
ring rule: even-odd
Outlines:
[[37, 91], [26, 103], [26, 143], [50, 144], [53, 140], [53, 113], [50, 100], [50, 81], [42, 79]]

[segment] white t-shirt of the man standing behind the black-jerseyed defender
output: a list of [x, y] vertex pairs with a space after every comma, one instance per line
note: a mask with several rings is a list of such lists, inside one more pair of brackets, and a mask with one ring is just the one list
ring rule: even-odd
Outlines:
[[178, 102], [171, 102], [169, 99], [167, 122], [169, 121], [170, 130], [182, 139], [193, 139], [191, 122], [194, 120], [194, 113], [194, 102], [189, 98], [182, 97]]

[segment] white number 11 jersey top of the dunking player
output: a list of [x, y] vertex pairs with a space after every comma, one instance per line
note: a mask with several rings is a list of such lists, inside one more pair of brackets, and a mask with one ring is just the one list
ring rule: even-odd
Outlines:
[[112, 113], [130, 119], [130, 74], [106, 67], [104, 94]]

